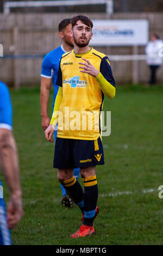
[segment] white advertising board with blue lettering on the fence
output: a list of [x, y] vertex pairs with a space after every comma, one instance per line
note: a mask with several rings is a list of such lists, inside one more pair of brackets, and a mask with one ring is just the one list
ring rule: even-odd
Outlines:
[[92, 46], [134, 46], [148, 42], [147, 20], [93, 20]]

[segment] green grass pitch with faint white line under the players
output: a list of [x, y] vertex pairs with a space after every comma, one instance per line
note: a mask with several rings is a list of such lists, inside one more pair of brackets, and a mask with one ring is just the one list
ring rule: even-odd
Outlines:
[[[54, 144], [41, 128], [40, 89], [10, 90], [14, 136], [21, 167], [24, 216], [12, 230], [14, 245], [162, 245], [163, 87], [117, 87], [111, 111], [111, 135], [103, 137], [105, 165], [97, 167], [100, 214], [96, 235], [70, 239], [80, 226], [77, 206], [61, 206]], [[52, 114], [52, 96], [49, 116]], [[2, 178], [2, 175], [1, 175]], [[79, 179], [81, 181], [81, 179]], [[81, 182], [82, 183], [82, 182]], [[4, 194], [9, 194], [4, 185]]]

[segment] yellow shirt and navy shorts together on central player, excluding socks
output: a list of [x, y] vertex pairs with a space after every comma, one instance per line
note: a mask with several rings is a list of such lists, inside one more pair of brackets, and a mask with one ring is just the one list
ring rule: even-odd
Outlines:
[[[82, 58], [88, 59], [99, 71], [97, 77], [80, 72], [79, 62], [84, 62]], [[56, 125], [58, 121], [54, 167], [68, 168], [67, 161], [64, 163], [63, 152], [64, 156], [66, 152], [66, 158], [70, 159], [68, 166], [86, 167], [104, 164], [101, 111], [104, 95], [110, 99], [115, 96], [115, 80], [108, 57], [93, 48], [84, 54], [75, 54], [74, 51], [63, 54], [57, 84], [60, 88], [51, 119], [53, 125]], [[59, 111], [58, 116], [57, 111]], [[74, 115], [76, 116], [75, 122]], [[72, 123], [76, 123], [75, 129], [71, 128]], [[67, 143], [73, 144], [70, 150], [66, 148], [67, 144], [65, 147], [65, 143], [61, 143], [61, 139], [68, 139]]]

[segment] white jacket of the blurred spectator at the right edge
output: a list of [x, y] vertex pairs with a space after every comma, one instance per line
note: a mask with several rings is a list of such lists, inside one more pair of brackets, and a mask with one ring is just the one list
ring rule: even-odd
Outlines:
[[149, 41], [145, 52], [146, 52], [146, 62], [148, 65], [161, 65], [162, 64], [162, 50], [163, 41], [157, 39], [155, 41]]

